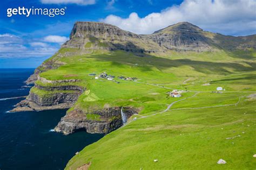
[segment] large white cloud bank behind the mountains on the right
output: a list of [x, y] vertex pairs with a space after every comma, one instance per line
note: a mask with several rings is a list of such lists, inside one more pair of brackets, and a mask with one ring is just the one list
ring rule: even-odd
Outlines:
[[159, 13], [140, 18], [109, 15], [102, 22], [139, 34], [149, 34], [178, 22], [191, 22], [207, 31], [242, 35], [256, 33], [255, 0], [185, 0]]

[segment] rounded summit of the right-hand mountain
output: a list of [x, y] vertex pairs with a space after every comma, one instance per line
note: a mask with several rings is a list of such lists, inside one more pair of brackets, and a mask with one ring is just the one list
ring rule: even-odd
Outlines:
[[193, 25], [191, 23], [188, 22], [180, 22], [177, 24], [173, 24], [170, 26], [165, 27], [164, 29], [155, 31], [153, 34], [156, 33], [171, 33], [171, 32], [200, 32], [203, 31], [202, 29], [200, 29], [200, 27]]

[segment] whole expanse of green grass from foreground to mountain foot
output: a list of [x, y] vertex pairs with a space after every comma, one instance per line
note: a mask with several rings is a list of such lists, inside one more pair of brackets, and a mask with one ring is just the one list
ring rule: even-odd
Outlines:
[[[66, 52], [74, 49], [59, 51]], [[123, 51], [52, 56], [47, 62], [65, 65], [41, 77], [80, 79], [68, 84], [86, 87], [70, 110], [126, 106], [140, 110], [128, 124], [85, 147], [66, 169], [89, 162], [90, 169], [254, 169], [256, 103], [248, 96], [256, 93], [255, 56], [252, 50], [172, 52], [161, 57]], [[90, 76], [103, 72], [116, 76], [114, 81]], [[213, 93], [217, 87], [225, 91]], [[173, 89], [187, 91], [179, 98], [166, 94]], [[44, 95], [44, 90], [32, 90]], [[133, 121], [134, 117], [138, 119]], [[93, 114], [87, 118], [99, 119]], [[219, 159], [227, 164], [218, 165]]]

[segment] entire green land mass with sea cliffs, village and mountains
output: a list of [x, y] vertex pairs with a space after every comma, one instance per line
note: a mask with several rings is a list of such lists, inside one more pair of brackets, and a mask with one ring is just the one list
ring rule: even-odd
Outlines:
[[187, 22], [148, 35], [77, 22], [11, 111], [65, 108], [56, 132], [108, 133], [66, 169], [253, 168], [255, 49], [255, 35]]

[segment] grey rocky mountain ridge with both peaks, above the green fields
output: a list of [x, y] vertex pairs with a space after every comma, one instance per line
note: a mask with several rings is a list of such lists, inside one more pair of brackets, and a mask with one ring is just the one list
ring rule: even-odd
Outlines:
[[206, 32], [188, 22], [178, 23], [153, 34], [138, 35], [105, 23], [77, 22], [70, 40], [62, 47], [123, 49], [131, 52], [216, 51], [255, 48], [256, 36], [232, 37]]

